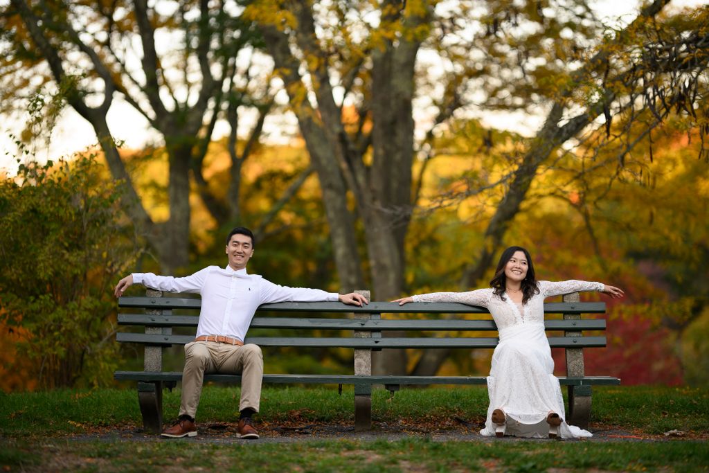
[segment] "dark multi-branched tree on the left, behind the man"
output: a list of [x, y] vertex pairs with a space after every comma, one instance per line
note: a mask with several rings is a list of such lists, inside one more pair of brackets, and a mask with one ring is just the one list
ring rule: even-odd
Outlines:
[[[13, 0], [0, 6], [5, 113], [22, 108], [38, 88], [53, 84], [62, 91], [94, 129], [113, 179], [125, 182], [125, 211], [164, 272], [189, 264], [191, 183], [216, 226], [240, 220], [240, 168], [273, 105], [268, 70], [253, 67], [259, 38], [242, 20], [240, 3]], [[259, 77], [252, 77], [255, 70]], [[137, 112], [136, 125], [158, 143], [139, 154], [164, 163], [153, 177], [165, 213], [145, 205], [135, 169], [112, 138], [107, 116], [116, 101]], [[245, 126], [242, 114], [255, 119]], [[222, 187], [203, 175], [219, 120], [228, 124], [230, 156]], [[237, 149], [240, 126], [250, 138]]]

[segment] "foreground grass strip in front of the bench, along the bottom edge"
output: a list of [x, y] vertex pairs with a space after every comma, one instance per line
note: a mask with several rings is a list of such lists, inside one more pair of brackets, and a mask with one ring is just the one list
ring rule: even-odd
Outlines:
[[[43, 450], [42, 453], [38, 449]], [[550, 440], [433, 442], [409, 438], [387, 442], [313, 440], [287, 444], [194, 443], [190, 440], [5, 443], [0, 464], [7, 471], [123, 472], [554, 472], [705, 471], [703, 443], [591, 443]]]

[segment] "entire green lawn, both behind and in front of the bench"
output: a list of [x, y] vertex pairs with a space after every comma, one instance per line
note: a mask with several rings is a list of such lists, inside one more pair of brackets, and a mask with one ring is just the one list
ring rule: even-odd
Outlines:
[[[179, 389], [166, 391], [167, 419], [177, 415]], [[248, 443], [228, 435], [212, 441], [162, 440], [135, 434], [140, 426], [133, 389], [0, 394], [0, 468], [6, 471], [447, 472], [447, 471], [709, 471], [709, 394], [705, 390], [621, 386], [595, 388], [591, 430], [620, 429], [654, 441], [609, 439], [448, 440], [421, 434], [474, 432], [484, 421], [484, 387], [403, 389], [373, 396], [375, 432], [396, 424], [396, 440]], [[239, 390], [206, 386], [199, 423], [235, 423]], [[267, 388], [257, 427], [339, 425], [350, 428], [354, 401], [323, 388]], [[408, 427], [415, 435], [408, 437]], [[667, 430], [692, 440], [664, 440]], [[128, 432], [130, 435], [119, 435]], [[99, 435], [100, 434], [100, 435]], [[264, 435], [264, 438], [266, 435]], [[199, 438], [204, 439], [201, 435]], [[477, 439], [480, 439], [477, 437]]]

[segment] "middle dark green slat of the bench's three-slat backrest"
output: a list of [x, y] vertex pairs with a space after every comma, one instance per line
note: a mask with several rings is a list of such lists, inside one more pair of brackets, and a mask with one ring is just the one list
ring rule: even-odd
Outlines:
[[[118, 314], [119, 325], [196, 327], [198, 316], [152, 316]], [[255, 317], [250, 328], [292, 328], [310, 330], [497, 330], [493, 321], [446, 320], [357, 320], [352, 318]], [[605, 330], [605, 319], [545, 321], [547, 330]]]

